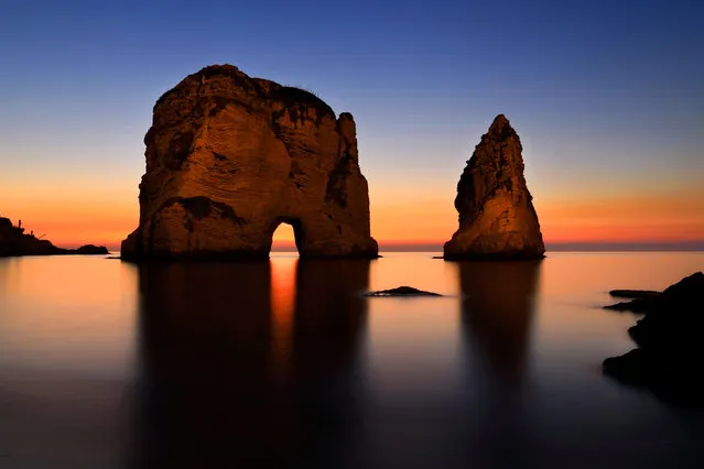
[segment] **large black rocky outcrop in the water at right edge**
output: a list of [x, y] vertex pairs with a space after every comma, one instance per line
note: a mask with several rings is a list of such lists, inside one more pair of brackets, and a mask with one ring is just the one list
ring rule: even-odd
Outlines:
[[628, 329], [639, 348], [604, 360], [604, 372], [672, 403], [704, 404], [704, 273], [620, 305], [646, 314]]

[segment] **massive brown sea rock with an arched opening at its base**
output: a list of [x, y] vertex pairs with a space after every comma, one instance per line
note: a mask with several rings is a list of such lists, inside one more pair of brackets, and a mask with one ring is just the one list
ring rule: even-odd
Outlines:
[[355, 121], [231, 65], [186, 77], [144, 137], [140, 223], [122, 258], [267, 258], [280, 223], [301, 257], [378, 254]]

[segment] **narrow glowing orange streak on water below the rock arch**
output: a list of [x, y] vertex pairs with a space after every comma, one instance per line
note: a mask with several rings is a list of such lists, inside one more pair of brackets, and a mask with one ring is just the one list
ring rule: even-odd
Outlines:
[[297, 257], [279, 258], [271, 265], [271, 356], [279, 368], [291, 357]]

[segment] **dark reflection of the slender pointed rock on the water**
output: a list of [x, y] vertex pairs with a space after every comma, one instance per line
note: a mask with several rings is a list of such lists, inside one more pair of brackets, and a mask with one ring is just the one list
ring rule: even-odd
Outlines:
[[[462, 262], [462, 328], [472, 408], [467, 459], [484, 467], [520, 467], [535, 454], [523, 388], [529, 361], [538, 262]], [[464, 458], [463, 458], [464, 459]]]

